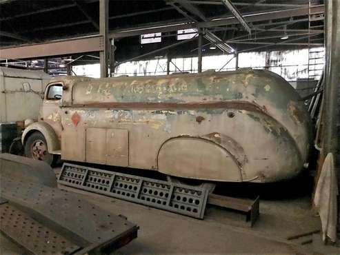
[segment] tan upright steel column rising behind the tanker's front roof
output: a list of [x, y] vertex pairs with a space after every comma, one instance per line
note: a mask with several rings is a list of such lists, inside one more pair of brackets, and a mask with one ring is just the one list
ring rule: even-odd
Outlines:
[[109, 0], [99, 0], [99, 33], [103, 37], [103, 51], [99, 52], [101, 78], [108, 77], [108, 4]]

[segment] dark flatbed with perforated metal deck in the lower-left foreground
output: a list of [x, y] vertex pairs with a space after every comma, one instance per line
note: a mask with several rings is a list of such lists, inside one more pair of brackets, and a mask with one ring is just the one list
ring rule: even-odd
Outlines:
[[1, 198], [8, 201], [0, 205], [1, 217], [6, 217], [1, 232], [34, 254], [98, 254], [107, 247], [112, 252], [137, 237], [137, 225], [77, 194], [3, 176], [0, 181]]

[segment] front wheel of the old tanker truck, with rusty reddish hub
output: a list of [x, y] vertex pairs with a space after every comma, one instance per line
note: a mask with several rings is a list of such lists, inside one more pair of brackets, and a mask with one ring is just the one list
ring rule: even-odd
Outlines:
[[25, 143], [25, 155], [28, 158], [38, 161], [45, 161], [48, 165], [53, 165], [57, 156], [48, 153], [46, 139], [41, 132], [34, 132]]

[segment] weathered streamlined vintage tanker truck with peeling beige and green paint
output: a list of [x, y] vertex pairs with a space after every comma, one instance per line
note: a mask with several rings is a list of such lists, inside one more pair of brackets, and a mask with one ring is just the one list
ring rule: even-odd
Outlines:
[[311, 125], [297, 92], [266, 70], [91, 79], [58, 76], [26, 156], [203, 181], [274, 182], [308, 160]]

